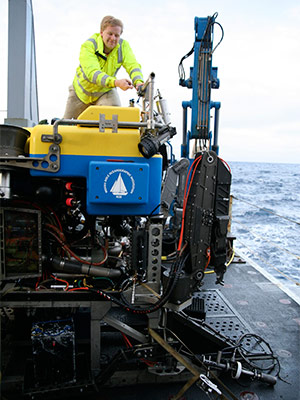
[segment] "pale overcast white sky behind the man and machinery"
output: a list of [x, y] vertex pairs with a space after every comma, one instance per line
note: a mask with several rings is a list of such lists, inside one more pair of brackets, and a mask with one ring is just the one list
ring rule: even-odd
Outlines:
[[[21, 1], [21, 0], [20, 0]], [[32, 0], [39, 117], [61, 118], [81, 44], [99, 31], [105, 15], [124, 22], [144, 77], [168, 101], [180, 154], [182, 106], [192, 91], [178, 84], [178, 64], [194, 44], [194, 18], [218, 13], [224, 39], [213, 54], [221, 102], [219, 145], [226, 161], [300, 163], [299, 0]], [[8, 0], [0, 0], [0, 123], [7, 109]], [[220, 39], [215, 27], [214, 44]], [[184, 62], [186, 75], [193, 56]], [[118, 78], [127, 77], [120, 70]], [[137, 96], [122, 92], [122, 105]]]

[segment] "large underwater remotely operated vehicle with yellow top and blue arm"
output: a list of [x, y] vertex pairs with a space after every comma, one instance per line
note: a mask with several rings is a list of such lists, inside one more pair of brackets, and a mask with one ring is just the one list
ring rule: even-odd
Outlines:
[[77, 120], [1, 126], [7, 393], [66, 398], [188, 381], [179, 399], [194, 382], [220, 394], [213, 377], [222, 370], [276, 383], [249, 367], [253, 338], [237, 344], [206, 323], [201, 297], [206, 272], [223, 284], [232, 249], [231, 172], [218, 156], [220, 103], [211, 101], [216, 17], [195, 18], [195, 43], [180, 63], [193, 96], [183, 102], [178, 161], [154, 73], [139, 91], [142, 108], [91, 106]]

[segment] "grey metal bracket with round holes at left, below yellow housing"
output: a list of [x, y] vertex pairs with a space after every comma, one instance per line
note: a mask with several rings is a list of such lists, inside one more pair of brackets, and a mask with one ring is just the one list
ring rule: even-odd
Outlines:
[[0, 157], [0, 165], [7, 167], [30, 168], [44, 172], [57, 172], [60, 169], [60, 147], [58, 144], [49, 146], [45, 157]]

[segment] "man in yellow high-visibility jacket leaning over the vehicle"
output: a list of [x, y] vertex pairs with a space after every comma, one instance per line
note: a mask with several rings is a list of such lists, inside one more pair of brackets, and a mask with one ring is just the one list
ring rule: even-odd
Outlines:
[[[120, 106], [117, 88], [128, 90], [144, 83], [141, 66], [129, 43], [121, 39], [123, 23], [106, 16], [95, 33], [86, 40], [80, 50], [80, 65], [76, 70], [64, 118], [76, 119], [90, 105]], [[123, 66], [130, 79], [117, 79]]]

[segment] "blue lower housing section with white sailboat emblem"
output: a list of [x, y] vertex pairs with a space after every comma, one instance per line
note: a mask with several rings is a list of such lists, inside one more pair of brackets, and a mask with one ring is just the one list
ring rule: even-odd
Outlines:
[[[36, 157], [44, 155], [37, 154]], [[36, 177], [83, 177], [89, 215], [158, 214], [162, 158], [61, 155], [55, 174], [31, 170]], [[157, 208], [154, 212], [153, 210]]]

